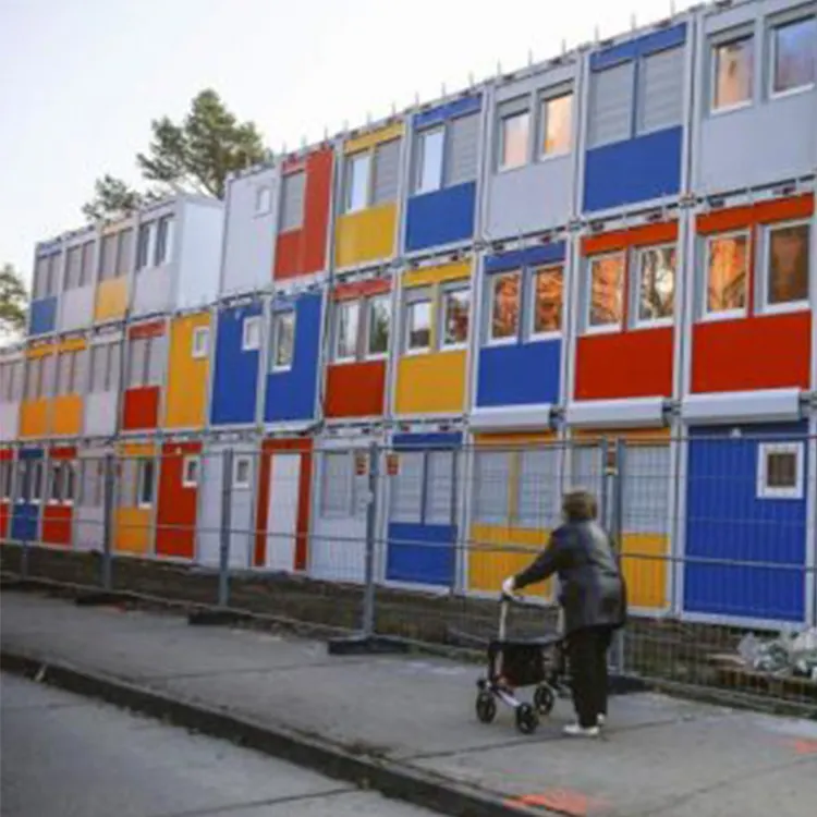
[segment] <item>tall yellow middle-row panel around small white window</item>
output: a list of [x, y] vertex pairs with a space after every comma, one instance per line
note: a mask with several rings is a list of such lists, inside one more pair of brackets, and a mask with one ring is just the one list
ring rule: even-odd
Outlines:
[[187, 315], [171, 324], [166, 428], [203, 428], [206, 423], [209, 361], [193, 357], [193, 332], [209, 325], [208, 314]]

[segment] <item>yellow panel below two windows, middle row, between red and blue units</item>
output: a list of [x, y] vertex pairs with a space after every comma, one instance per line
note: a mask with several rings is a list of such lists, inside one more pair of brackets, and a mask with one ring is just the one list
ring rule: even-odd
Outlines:
[[465, 403], [465, 351], [406, 355], [398, 364], [397, 414], [450, 414]]

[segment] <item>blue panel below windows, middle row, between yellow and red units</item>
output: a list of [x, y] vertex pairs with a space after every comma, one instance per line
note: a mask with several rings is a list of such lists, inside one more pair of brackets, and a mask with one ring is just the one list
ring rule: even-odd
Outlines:
[[560, 340], [485, 346], [479, 352], [477, 405], [558, 403]]

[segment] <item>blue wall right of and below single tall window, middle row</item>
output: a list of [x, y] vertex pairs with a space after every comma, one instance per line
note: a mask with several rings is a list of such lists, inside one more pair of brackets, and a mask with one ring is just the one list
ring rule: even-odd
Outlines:
[[320, 347], [321, 297], [302, 295], [295, 306], [295, 347], [292, 368], [267, 375], [264, 420], [310, 419], [315, 416]]

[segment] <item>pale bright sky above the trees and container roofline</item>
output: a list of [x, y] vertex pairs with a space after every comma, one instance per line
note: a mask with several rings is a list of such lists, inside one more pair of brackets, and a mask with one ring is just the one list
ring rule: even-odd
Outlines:
[[103, 173], [138, 184], [150, 121], [181, 120], [206, 87], [279, 151], [670, 9], [671, 0], [0, 0], [0, 265], [29, 282], [35, 242], [81, 227]]

